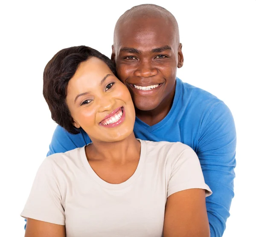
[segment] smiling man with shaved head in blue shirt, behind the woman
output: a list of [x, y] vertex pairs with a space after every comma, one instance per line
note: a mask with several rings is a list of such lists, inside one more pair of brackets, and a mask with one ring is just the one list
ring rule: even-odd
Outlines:
[[[207, 197], [211, 237], [222, 236], [233, 198], [236, 130], [223, 101], [176, 78], [183, 66], [175, 17], [152, 4], [135, 6], [117, 21], [111, 59], [136, 108], [134, 133], [151, 141], [183, 142], [197, 153]], [[57, 127], [48, 155], [90, 142]], [[184, 223], [185, 224], [185, 223]]]

